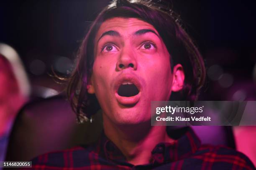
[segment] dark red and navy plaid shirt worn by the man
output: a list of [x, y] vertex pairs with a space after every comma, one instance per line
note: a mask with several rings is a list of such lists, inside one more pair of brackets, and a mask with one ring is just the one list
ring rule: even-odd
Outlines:
[[[35, 170], [255, 170], [242, 153], [201, 145], [191, 128], [174, 143], [159, 143], [151, 152], [150, 163], [132, 165], [105, 135], [95, 145], [47, 153], [32, 160]], [[31, 169], [31, 168], [28, 168]]]

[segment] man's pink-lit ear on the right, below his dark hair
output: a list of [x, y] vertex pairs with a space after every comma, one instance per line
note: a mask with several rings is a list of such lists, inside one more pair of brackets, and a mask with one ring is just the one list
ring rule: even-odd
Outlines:
[[184, 86], [184, 79], [185, 75], [182, 65], [175, 65], [172, 72], [172, 91], [178, 92], [179, 90], [182, 90]]

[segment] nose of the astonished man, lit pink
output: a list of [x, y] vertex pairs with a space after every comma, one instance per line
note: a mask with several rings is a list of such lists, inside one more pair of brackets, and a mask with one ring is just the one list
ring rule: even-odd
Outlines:
[[135, 55], [131, 50], [123, 50], [120, 53], [120, 57], [116, 63], [116, 68], [118, 71], [131, 67], [133, 70], [137, 70], [137, 60]]

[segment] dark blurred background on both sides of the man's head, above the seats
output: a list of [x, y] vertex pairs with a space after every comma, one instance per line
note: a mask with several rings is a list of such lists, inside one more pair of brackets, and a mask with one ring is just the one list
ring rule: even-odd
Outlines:
[[[17, 50], [32, 85], [61, 90], [48, 73], [69, 74], [90, 21], [108, 2], [1, 1], [0, 42]], [[200, 100], [256, 100], [256, 1], [172, 0], [172, 6], [205, 58]]]

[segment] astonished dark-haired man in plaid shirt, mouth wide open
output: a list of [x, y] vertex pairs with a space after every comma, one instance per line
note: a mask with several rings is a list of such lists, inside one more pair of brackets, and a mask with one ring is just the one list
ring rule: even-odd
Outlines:
[[165, 126], [151, 126], [151, 101], [196, 100], [204, 79], [202, 57], [172, 10], [114, 1], [92, 23], [67, 89], [78, 120], [92, 120], [100, 106], [102, 137], [39, 156], [33, 167], [255, 169], [242, 153], [200, 145], [190, 128], [171, 138]]

